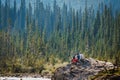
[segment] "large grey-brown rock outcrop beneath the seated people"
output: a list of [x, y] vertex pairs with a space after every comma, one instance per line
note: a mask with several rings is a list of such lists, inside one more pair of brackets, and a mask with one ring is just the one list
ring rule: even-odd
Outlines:
[[84, 59], [77, 64], [68, 64], [65, 67], [57, 68], [52, 80], [89, 80], [90, 76], [97, 75], [98, 72], [109, 70], [113, 67], [110, 62], [92, 58]]

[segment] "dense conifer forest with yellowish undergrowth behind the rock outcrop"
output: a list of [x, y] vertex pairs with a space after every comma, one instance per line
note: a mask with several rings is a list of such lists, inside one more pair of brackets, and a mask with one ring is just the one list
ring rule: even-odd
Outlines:
[[[25, 0], [17, 8], [0, 0], [0, 73], [42, 73], [46, 66], [69, 62], [75, 52], [115, 62], [120, 57], [120, 10], [99, 4], [76, 10]], [[118, 60], [120, 62], [120, 60]], [[49, 69], [51, 72], [54, 68]]]

